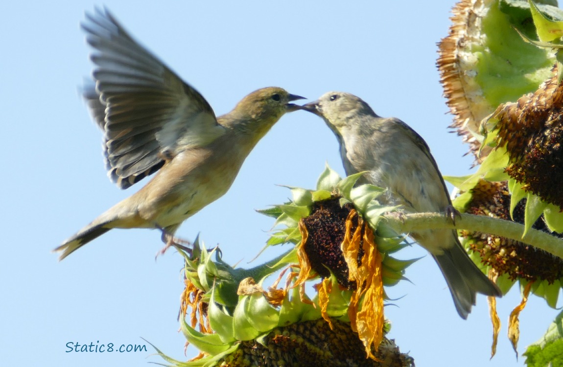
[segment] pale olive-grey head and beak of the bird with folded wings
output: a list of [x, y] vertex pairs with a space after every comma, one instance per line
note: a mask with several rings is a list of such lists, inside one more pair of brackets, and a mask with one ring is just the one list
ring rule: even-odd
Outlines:
[[324, 93], [318, 100], [303, 105], [300, 109], [322, 117], [335, 132], [351, 124], [355, 117], [377, 116], [366, 102], [345, 92]]

